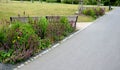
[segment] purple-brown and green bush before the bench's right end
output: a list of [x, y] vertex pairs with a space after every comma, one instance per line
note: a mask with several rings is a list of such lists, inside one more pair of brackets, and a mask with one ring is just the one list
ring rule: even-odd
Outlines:
[[51, 22], [47, 28], [47, 37], [51, 42], [58, 42], [65, 36], [74, 31], [74, 28], [69, 24], [66, 17], [61, 17], [60, 22]]

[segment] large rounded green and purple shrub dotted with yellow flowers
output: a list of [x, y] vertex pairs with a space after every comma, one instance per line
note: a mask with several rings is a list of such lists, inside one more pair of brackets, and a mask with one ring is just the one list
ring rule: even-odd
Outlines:
[[[16, 63], [34, 55], [40, 47], [40, 39], [30, 24], [15, 22], [6, 30], [5, 42], [0, 50], [0, 61]], [[40, 50], [40, 49], [39, 49]]]

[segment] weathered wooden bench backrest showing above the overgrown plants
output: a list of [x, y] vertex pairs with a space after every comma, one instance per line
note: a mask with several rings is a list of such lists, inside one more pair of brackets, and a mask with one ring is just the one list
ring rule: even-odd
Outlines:
[[[48, 22], [55, 22], [55, 23], [59, 23], [60, 22], [60, 18], [63, 16], [45, 16], [46, 19], [48, 20]], [[65, 16], [68, 18], [69, 23], [76, 28], [76, 22], [78, 19], [77, 15], [71, 15], [71, 16]], [[32, 20], [38, 20], [40, 17], [10, 17], [10, 21], [21, 21], [21, 22], [28, 22], [29, 18], [32, 18]]]

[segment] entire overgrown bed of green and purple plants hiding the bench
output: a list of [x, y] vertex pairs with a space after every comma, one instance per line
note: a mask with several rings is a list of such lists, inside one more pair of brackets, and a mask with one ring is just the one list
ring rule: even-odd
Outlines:
[[15, 21], [1, 26], [0, 62], [18, 63], [47, 49], [74, 31], [66, 17], [49, 23], [46, 18], [29, 23]]

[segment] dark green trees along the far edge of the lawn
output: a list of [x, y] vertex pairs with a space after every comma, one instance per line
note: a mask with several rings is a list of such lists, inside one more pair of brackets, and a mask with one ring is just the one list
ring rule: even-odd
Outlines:
[[[62, 2], [62, 3], [67, 3], [67, 4], [78, 4], [80, 0], [14, 0], [14, 1], [46, 1], [46, 2]], [[83, 0], [85, 5], [97, 5], [97, 4], [102, 4], [102, 5], [111, 5], [114, 6], [119, 6], [120, 5], [120, 0]]]

